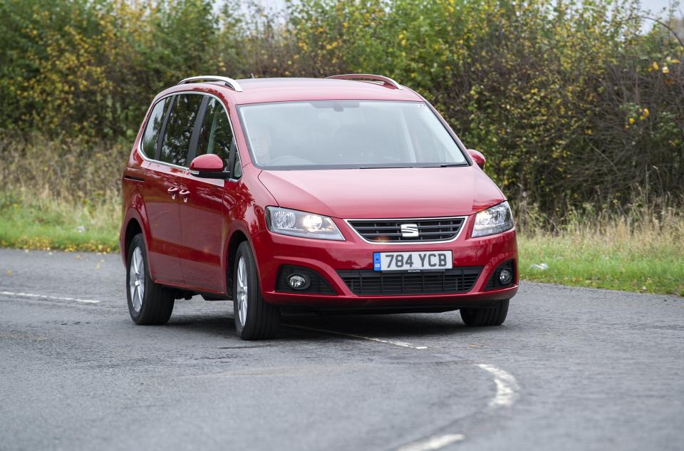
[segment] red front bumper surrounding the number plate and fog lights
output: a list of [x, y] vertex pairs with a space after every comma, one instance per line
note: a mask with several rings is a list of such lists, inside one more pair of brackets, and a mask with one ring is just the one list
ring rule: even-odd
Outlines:
[[[269, 304], [324, 309], [450, 308], [487, 306], [510, 299], [518, 289], [517, 242], [515, 229], [491, 237], [470, 238], [473, 217], [469, 217], [454, 242], [410, 245], [370, 244], [364, 242], [346, 222], [334, 219], [344, 242], [306, 239], [259, 232], [252, 237], [261, 291]], [[470, 291], [457, 294], [356, 295], [338, 275], [338, 270], [373, 269], [373, 252], [451, 250], [454, 267], [482, 266], [482, 272]], [[514, 283], [502, 289], [485, 286], [499, 264], [513, 260]], [[276, 279], [282, 265], [304, 266], [318, 272], [336, 291], [336, 295], [276, 291]]]

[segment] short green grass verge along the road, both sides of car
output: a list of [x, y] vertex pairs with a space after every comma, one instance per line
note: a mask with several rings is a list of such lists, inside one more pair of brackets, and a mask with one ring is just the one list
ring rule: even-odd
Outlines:
[[[115, 196], [76, 202], [0, 193], [0, 247], [117, 252], [119, 221]], [[591, 226], [573, 223], [556, 234], [519, 234], [520, 275], [555, 284], [684, 296], [684, 219], [670, 216], [663, 222], [665, 227], [618, 216], [586, 222]], [[541, 263], [547, 269], [530, 267]]]

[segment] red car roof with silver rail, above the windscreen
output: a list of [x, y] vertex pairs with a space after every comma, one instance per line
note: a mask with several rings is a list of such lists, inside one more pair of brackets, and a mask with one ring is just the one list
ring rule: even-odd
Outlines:
[[175, 85], [157, 97], [187, 90], [221, 94], [235, 105], [249, 103], [292, 102], [297, 100], [404, 100], [423, 102], [410, 88], [374, 81], [340, 80], [333, 78], [244, 78], [237, 80], [242, 91], [223, 82], [186, 83]]

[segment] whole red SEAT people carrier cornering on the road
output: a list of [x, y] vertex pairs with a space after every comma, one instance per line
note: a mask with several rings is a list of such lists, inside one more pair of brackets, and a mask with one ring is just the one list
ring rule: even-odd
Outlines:
[[415, 91], [383, 76], [187, 78], [152, 102], [123, 174], [128, 309], [232, 299], [240, 338], [281, 312], [506, 318], [506, 197]]

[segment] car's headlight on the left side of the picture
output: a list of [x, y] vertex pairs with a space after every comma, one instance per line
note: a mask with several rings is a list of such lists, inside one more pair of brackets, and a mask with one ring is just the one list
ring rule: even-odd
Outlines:
[[320, 214], [266, 207], [266, 224], [271, 232], [291, 237], [344, 241], [344, 237], [333, 220]]

